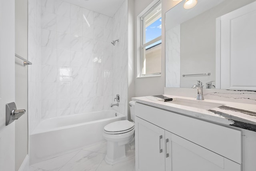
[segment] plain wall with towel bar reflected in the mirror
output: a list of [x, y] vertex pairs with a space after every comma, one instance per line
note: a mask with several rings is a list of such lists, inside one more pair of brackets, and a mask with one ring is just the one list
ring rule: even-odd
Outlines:
[[[190, 88], [192, 85], [197, 84], [196, 80], [200, 80], [203, 84], [216, 81], [215, 14], [217, 14], [218, 11], [219, 10], [210, 10], [210, 15], [208, 12], [204, 12], [180, 25], [180, 87]], [[182, 76], [183, 74], [202, 73], [211, 73], [211, 75]], [[213, 84], [216, 85], [215, 82]]]

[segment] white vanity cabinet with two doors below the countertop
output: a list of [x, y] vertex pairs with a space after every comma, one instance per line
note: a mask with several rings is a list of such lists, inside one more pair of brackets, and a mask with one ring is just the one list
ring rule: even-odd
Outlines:
[[135, 113], [136, 171], [241, 171], [241, 131], [140, 103]]

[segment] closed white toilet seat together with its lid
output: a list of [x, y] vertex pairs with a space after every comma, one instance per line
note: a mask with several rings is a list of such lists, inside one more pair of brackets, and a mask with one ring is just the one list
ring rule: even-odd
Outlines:
[[115, 121], [104, 127], [104, 132], [108, 134], [121, 134], [132, 131], [134, 129], [134, 123], [128, 120]]

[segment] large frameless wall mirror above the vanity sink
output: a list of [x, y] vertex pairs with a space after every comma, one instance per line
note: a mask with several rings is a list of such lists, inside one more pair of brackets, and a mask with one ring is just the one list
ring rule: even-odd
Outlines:
[[198, 0], [191, 9], [179, 1], [165, 18], [166, 87], [200, 80], [256, 90], [256, 0]]

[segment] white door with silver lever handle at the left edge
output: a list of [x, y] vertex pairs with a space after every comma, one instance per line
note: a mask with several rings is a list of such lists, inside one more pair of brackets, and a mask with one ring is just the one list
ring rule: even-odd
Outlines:
[[14, 0], [0, 0], [0, 171], [15, 169], [15, 123], [5, 125], [5, 105], [15, 101], [14, 10]]

